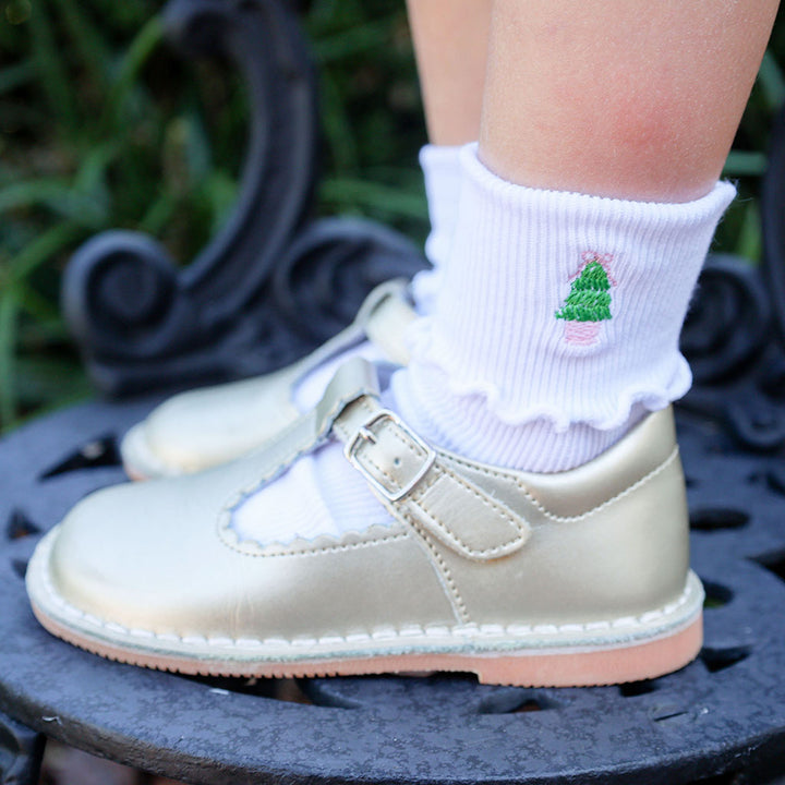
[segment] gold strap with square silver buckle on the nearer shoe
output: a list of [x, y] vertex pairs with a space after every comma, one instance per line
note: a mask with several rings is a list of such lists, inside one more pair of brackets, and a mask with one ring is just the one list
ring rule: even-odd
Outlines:
[[460, 472], [373, 395], [348, 403], [333, 433], [351, 464], [400, 521], [466, 558], [490, 560], [523, 546], [529, 522]]

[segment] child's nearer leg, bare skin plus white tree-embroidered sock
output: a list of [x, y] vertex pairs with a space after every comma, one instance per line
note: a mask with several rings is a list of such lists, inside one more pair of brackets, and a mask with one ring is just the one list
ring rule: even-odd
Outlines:
[[496, 0], [479, 160], [396, 381], [406, 416], [560, 471], [684, 395], [679, 331], [776, 5]]

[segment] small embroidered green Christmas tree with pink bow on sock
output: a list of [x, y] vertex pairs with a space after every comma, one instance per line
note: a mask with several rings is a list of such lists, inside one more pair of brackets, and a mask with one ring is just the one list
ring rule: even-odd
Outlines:
[[588, 252], [584, 265], [572, 280], [570, 293], [556, 312], [556, 318], [565, 319], [565, 339], [569, 343], [589, 345], [596, 341], [600, 323], [612, 318], [611, 286], [607, 265], [613, 256]]

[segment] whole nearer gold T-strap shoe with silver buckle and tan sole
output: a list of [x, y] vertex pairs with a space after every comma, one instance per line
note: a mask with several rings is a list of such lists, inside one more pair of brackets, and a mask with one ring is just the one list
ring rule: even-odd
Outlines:
[[[391, 524], [241, 540], [249, 495], [328, 439]], [[27, 588], [56, 636], [189, 674], [602, 685], [681, 667], [702, 632], [669, 409], [578, 469], [510, 471], [427, 445], [359, 359], [263, 450], [87, 497], [40, 542]]]

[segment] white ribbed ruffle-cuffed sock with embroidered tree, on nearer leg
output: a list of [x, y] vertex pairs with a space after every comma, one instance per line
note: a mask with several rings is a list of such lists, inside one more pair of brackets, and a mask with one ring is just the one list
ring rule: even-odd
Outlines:
[[689, 388], [679, 333], [735, 189], [630, 202], [514, 185], [474, 145], [460, 158], [452, 253], [392, 379], [400, 413], [475, 460], [580, 466]]

